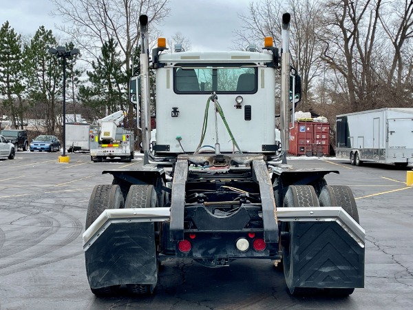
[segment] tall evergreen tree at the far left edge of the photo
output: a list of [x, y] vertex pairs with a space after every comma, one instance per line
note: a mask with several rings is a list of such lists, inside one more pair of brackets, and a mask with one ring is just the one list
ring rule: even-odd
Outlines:
[[[3, 104], [12, 113], [15, 128], [18, 127], [18, 118], [23, 128], [23, 76], [21, 74], [21, 36], [10, 28], [8, 21], [0, 29], [0, 93], [6, 96]], [[19, 105], [14, 102], [18, 99]]]

